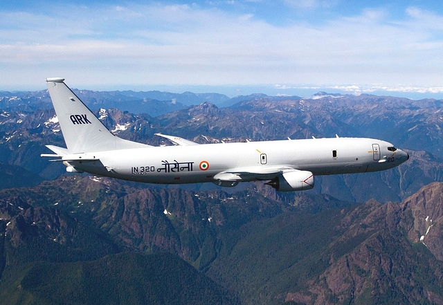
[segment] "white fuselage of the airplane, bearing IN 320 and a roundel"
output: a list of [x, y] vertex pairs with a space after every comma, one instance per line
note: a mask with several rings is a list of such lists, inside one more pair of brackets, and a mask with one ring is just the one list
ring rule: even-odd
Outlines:
[[75, 163], [75, 168], [92, 174], [145, 183], [202, 183], [213, 182], [222, 172], [263, 172], [273, 167], [314, 176], [377, 172], [407, 159], [403, 151], [388, 147], [392, 147], [388, 142], [369, 138], [318, 138], [119, 149], [72, 157], [99, 159], [102, 165]]

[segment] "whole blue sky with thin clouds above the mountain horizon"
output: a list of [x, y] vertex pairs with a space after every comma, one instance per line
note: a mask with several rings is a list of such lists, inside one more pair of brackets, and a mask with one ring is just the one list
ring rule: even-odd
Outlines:
[[443, 98], [440, 1], [0, 3], [0, 91]]

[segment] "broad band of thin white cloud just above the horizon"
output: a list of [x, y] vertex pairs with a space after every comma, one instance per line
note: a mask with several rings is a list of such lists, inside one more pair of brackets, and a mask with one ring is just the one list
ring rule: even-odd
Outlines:
[[443, 82], [443, 17], [419, 8], [407, 8], [402, 19], [363, 9], [321, 24], [280, 26], [196, 4], [47, 9], [48, 15], [0, 12], [4, 84], [48, 73], [116, 84]]

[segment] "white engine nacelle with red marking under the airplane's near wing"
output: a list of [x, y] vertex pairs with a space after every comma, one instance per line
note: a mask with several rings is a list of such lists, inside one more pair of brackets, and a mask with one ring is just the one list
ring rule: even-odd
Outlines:
[[294, 170], [285, 172], [266, 184], [280, 192], [311, 190], [314, 187], [314, 175], [308, 171]]

